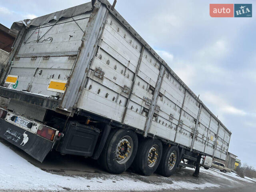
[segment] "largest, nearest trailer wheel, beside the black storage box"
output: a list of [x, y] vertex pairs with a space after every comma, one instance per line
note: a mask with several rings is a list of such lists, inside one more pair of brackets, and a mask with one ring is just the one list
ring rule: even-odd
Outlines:
[[110, 173], [120, 174], [132, 164], [138, 149], [138, 137], [132, 130], [114, 130], [108, 136], [98, 163]]

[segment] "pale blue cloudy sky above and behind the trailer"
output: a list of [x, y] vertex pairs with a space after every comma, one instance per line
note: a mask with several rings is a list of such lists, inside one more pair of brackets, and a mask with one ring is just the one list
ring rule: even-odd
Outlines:
[[[10, 28], [84, 2], [0, 0], [0, 23]], [[256, 168], [254, 2], [247, 2], [252, 18], [211, 18], [209, 3], [220, 3], [214, 0], [117, 0], [115, 8], [232, 131], [229, 151]]]

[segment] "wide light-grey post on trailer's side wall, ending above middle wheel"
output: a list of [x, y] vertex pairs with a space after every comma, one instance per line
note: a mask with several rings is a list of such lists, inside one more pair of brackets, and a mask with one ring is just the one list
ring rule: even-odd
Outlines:
[[152, 102], [151, 102], [151, 105], [150, 105], [150, 109], [149, 109], [149, 112], [148, 112], [148, 117], [147, 117], [145, 128], [144, 128], [144, 135], [143, 135], [144, 137], [146, 137], [148, 135], [148, 130], [149, 130], [151, 122], [152, 122], [152, 117], [153, 117], [153, 114], [154, 114], [155, 105], [156, 105], [158, 95], [159, 95], [159, 92], [160, 92], [160, 88], [161, 88], [161, 85], [162, 85], [162, 81], [163, 81], [163, 75], [164, 75], [164, 65], [161, 65], [160, 72], [159, 72], [157, 82], [156, 82], [156, 88], [155, 88], [155, 91], [154, 91], [153, 99], [152, 99]]

